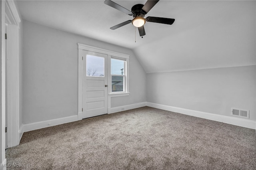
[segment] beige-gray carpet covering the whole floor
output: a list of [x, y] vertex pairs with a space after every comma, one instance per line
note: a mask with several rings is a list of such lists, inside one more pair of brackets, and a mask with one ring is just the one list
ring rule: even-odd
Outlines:
[[[7, 169], [256, 169], [249, 128], [142, 107], [25, 132]], [[14, 164], [22, 164], [15, 168]]]

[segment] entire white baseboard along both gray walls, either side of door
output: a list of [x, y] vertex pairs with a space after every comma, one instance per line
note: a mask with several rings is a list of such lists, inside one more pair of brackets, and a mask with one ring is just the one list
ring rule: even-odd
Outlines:
[[[228, 123], [228, 124], [237, 125], [237, 126], [241, 126], [241, 127], [256, 129], [256, 121], [241, 119], [241, 118], [237, 118], [237, 117], [216, 115], [216, 114], [206, 113], [206, 112], [201, 112], [201, 111], [193, 111], [193, 110], [189, 110], [189, 109], [183, 109], [183, 108], [172, 107], [172, 106], [167, 106], [167, 105], [160, 105], [160, 104], [150, 103], [150, 102], [142, 102], [142, 103], [135, 103], [135, 104], [131, 104], [131, 105], [124, 105], [124, 106], [120, 106], [120, 107], [108, 108], [108, 114], [116, 113], [116, 112], [120, 112], [120, 111], [126, 111], [126, 110], [130, 110], [130, 109], [136, 109], [136, 108], [144, 107], [144, 106], [154, 107], [157, 109], [163, 109], [166, 111], [172, 111], [172, 112], [181, 113], [184, 115], [190, 115], [190, 116], [194, 116], [194, 117], [200, 117], [200, 118], [209, 119], [212, 121]], [[82, 116], [82, 112], [78, 113], [78, 115], [74, 115], [74, 116], [63, 117], [63, 118], [59, 118], [59, 119], [52, 119], [52, 120], [48, 120], [48, 121], [41, 121], [41, 122], [36, 122], [36, 123], [29, 123], [29, 124], [24, 124], [24, 125], [22, 124], [18, 131], [19, 132], [19, 141], [21, 140], [24, 132], [78, 121], [78, 120], [81, 120], [81, 116]]]

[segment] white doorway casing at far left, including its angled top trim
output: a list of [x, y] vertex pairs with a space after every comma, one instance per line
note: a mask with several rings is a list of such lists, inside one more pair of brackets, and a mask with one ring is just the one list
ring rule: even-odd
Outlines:
[[7, 133], [8, 148], [20, 143], [19, 125], [19, 23], [21, 22], [13, 0], [5, 1], [5, 19], [7, 23]]

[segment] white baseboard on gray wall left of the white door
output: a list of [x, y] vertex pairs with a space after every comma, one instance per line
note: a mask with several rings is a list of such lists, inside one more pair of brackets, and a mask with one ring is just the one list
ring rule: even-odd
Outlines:
[[64, 123], [70, 123], [70, 122], [74, 122], [74, 121], [78, 121], [78, 115], [62, 117], [62, 118], [58, 118], [58, 119], [52, 119], [52, 120], [48, 120], [48, 121], [24, 124], [23, 128], [22, 128], [22, 132], [28, 132], [28, 131], [36, 130], [36, 129], [40, 129], [40, 128], [52, 127], [55, 125], [61, 125]]

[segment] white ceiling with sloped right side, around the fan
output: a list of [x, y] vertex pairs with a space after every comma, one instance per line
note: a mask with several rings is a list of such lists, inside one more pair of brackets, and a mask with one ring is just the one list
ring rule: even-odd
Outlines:
[[[113, 1], [129, 10], [146, 3]], [[143, 38], [132, 24], [110, 30], [132, 17], [104, 0], [17, 4], [25, 20], [132, 49], [146, 73], [256, 64], [256, 1], [160, 0], [146, 17], [175, 22], [147, 22]]]

